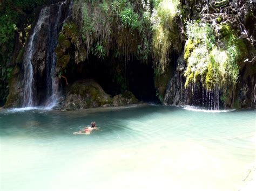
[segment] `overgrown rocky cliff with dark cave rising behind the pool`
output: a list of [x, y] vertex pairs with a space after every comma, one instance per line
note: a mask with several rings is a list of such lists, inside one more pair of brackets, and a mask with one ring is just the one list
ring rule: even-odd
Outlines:
[[[70, 6], [63, 8], [58, 23], [51, 21], [45, 26], [47, 22], [43, 22], [41, 32], [33, 40], [35, 46], [29, 60], [34, 105], [52, 102], [50, 97], [55, 95], [55, 101], [61, 95], [65, 97], [66, 78], [71, 84], [94, 79], [112, 97], [129, 90], [139, 100], [171, 105], [208, 109], [254, 107], [255, 3], [65, 3]], [[56, 4], [49, 8], [55, 10], [51, 15], [58, 17]], [[38, 17], [26, 29], [30, 31], [27, 39], [31, 38]], [[17, 56], [12, 65], [20, 70], [11, 72], [5, 107], [21, 107], [21, 103], [14, 104], [12, 100], [18, 91], [22, 97], [29, 92], [24, 89], [28, 83], [24, 81], [28, 75], [24, 52], [29, 41], [24, 45], [17, 43], [15, 47], [19, 51], [14, 51]], [[23, 106], [28, 105], [23, 102]]]

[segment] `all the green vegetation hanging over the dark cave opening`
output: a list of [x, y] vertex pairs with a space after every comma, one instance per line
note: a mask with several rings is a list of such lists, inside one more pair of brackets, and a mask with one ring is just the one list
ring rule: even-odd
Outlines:
[[[76, 63], [90, 55], [118, 60], [113, 80], [125, 90], [125, 68], [136, 57], [144, 63], [153, 62], [158, 86], [162, 75], [170, 77], [166, 75], [171, 54], [182, 49], [177, 25], [180, 9], [178, 0], [75, 1], [72, 17], [79, 30]], [[86, 51], [78, 53], [81, 48]], [[163, 97], [165, 86], [158, 91], [158, 97]]]

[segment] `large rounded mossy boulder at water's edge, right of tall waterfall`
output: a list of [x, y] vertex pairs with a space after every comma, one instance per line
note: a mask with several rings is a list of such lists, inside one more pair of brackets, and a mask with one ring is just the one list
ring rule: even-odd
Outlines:
[[64, 110], [76, 110], [96, 108], [103, 105], [111, 105], [113, 98], [106, 94], [100, 85], [94, 80], [76, 81], [71, 85], [68, 94], [60, 103]]

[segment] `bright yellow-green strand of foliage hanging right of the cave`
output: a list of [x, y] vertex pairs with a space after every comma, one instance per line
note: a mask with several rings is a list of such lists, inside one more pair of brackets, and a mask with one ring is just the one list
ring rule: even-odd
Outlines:
[[165, 72], [172, 50], [180, 51], [179, 30], [174, 18], [179, 13], [179, 1], [168, 0], [155, 3], [151, 22], [153, 25], [152, 51], [159, 74]]

